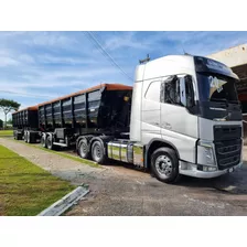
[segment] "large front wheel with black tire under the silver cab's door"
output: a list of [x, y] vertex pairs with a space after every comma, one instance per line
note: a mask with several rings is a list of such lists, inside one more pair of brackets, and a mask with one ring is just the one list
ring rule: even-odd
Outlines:
[[163, 183], [176, 183], [180, 174], [175, 151], [170, 148], [157, 149], [151, 155], [151, 171]]

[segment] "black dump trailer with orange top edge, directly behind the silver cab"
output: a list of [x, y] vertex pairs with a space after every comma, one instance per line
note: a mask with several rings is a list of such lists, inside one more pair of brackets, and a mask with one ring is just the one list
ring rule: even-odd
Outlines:
[[[103, 84], [39, 105], [43, 147], [85, 147], [129, 132], [132, 87]], [[98, 139], [98, 140], [99, 140]], [[80, 153], [89, 158], [89, 150]]]

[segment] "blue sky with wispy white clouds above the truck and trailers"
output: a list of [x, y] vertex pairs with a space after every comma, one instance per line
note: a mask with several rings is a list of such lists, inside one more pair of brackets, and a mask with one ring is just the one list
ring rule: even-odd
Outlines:
[[103, 83], [132, 85], [147, 54], [210, 55], [245, 43], [247, 32], [236, 31], [0, 32], [0, 98], [25, 108]]

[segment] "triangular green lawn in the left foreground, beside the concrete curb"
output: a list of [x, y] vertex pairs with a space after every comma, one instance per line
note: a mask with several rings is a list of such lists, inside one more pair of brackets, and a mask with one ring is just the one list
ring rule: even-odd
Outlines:
[[36, 215], [74, 189], [0, 146], [0, 215]]

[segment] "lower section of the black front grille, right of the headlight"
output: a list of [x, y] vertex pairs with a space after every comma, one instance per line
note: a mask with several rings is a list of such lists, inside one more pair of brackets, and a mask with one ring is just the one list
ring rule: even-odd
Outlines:
[[241, 155], [241, 139], [215, 142], [218, 169], [224, 170], [237, 165]]

